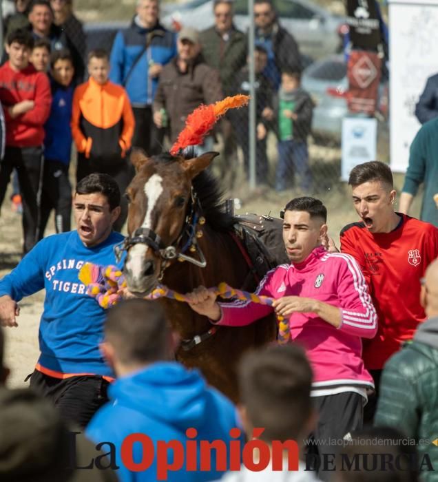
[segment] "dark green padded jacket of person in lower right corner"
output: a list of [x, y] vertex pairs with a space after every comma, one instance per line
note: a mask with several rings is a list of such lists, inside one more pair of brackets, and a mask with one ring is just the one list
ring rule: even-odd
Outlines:
[[420, 463], [427, 454], [435, 469], [421, 472], [421, 481], [438, 481], [438, 447], [432, 443], [438, 443], [438, 317], [421, 324], [413, 342], [386, 363], [374, 424], [415, 439]]

